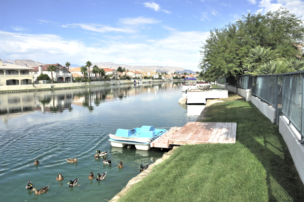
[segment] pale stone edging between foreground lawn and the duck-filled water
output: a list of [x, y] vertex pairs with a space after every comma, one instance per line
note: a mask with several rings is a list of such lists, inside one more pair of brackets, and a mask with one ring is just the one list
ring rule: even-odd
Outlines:
[[145, 178], [146, 176], [148, 176], [151, 172], [153, 172], [153, 168], [162, 163], [165, 159], [169, 158], [174, 150], [177, 148], [178, 146], [174, 146], [172, 150], [164, 153], [163, 157], [157, 159], [155, 161], [155, 163], [149, 165], [148, 169], [142, 171], [140, 174], [138, 174], [136, 177], [132, 178], [128, 184], [126, 185], [125, 188], [123, 188], [118, 194], [116, 194], [109, 202], [117, 202], [121, 197], [125, 196], [128, 191], [132, 188], [132, 186], [138, 182], [140, 182], [143, 178]]

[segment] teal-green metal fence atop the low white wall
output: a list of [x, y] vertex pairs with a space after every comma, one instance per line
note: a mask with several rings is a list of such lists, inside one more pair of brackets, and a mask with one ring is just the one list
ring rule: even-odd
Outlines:
[[251, 93], [276, 109], [276, 124], [279, 116], [285, 115], [304, 140], [303, 93], [304, 71], [284, 74], [239, 75], [220, 77], [219, 84], [251, 89]]

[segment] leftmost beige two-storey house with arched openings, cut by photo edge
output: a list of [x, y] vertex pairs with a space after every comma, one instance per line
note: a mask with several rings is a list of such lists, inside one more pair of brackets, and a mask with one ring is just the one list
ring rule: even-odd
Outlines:
[[33, 68], [9, 63], [0, 59], [0, 85], [26, 85], [33, 82]]

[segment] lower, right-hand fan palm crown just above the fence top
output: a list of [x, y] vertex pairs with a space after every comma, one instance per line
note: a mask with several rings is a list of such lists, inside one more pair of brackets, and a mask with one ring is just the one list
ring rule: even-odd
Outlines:
[[251, 75], [261, 74], [278, 74], [289, 72], [289, 65], [285, 61], [272, 60], [268, 63], [262, 64], [258, 69], [255, 69]]

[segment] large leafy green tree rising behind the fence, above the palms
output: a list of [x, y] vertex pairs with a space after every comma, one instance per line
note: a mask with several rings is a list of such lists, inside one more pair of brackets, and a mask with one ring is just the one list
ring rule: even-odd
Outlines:
[[252, 48], [270, 48], [277, 51], [278, 58], [290, 58], [298, 54], [296, 45], [303, 40], [303, 22], [285, 8], [265, 15], [249, 13], [235, 23], [210, 31], [201, 47], [199, 67], [207, 79], [244, 74], [248, 67], [244, 62]]

